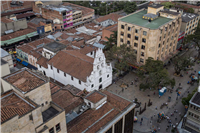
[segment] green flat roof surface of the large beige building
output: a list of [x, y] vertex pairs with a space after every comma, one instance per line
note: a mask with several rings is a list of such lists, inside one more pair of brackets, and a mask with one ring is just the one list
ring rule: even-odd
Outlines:
[[145, 27], [145, 28], [150, 28], [150, 29], [158, 29], [163, 24], [166, 24], [170, 22], [171, 20], [173, 20], [170, 18], [158, 17], [157, 19], [149, 22], [148, 20], [142, 18], [145, 14], [147, 14], [147, 10], [142, 10], [137, 13], [131, 14], [127, 17], [121, 18], [119, 20], [122, 22], [127, 22], [130, 24], [135, 24], [135, 25]]

